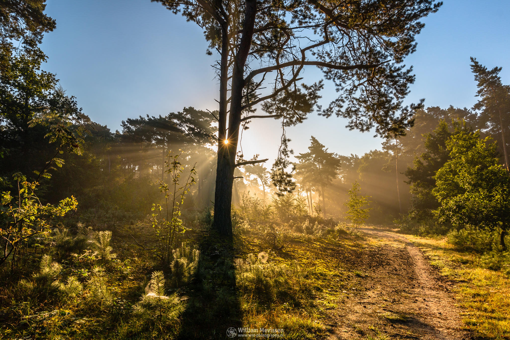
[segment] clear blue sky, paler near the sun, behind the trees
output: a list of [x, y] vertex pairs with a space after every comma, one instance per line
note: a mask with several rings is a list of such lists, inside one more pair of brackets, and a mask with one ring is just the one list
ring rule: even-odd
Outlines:
[[[43, 69], [57, 73], [67, 94], [94, 121], [119, 128], [138, 115], [165, 115], [193, 106], [217, 109], [218, 85], [206, 55], [207, 42], [196, 24], [173, 15], [149, 0], [48, 0], [46, 12], [57, 29], [46, 34]], [[510, 1], [446, 0], [438, 13], [425, 18], [417, 36], [418, 50], [405, 60], [414, 66], [416, 82], [408, 102], [425, 98], [426, 106], [471, 107], [476, 84], [469, 57], [492, 68], [502, 66], [510, 83]], [[316, 70], [307, 71], [317, 79]], [[307, 75], [305, 73], [305, 76]], [[306, 79], [304, 80], [306, 81]], [[309, 83], [309, 82], [308, 82]], [[322, 103], [335, 91], [326, 83]], [[291, 147], [305, 152], [310, 136], [330, 151], [363, 154], [380, 147], [371, 133], [349, 132], [345, 121], [312, 114], [288, 129]], [[281, 130], [274, 120], [259, 120], [243, 133], [247, 158], [276, 156]]]

